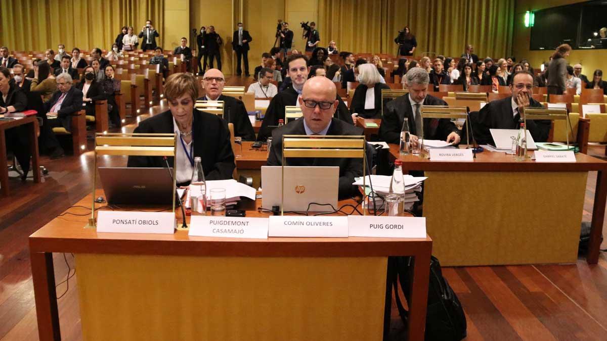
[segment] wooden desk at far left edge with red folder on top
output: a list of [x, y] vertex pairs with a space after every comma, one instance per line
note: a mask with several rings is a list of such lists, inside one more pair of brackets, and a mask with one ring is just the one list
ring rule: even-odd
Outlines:
[[[4, 115], [0, 115], [4, 116]], [[12, 121], [0, 121], [0, 186], [2, 186], [2, 194], [10, 194], [8, 188], [8, 161], [6, 158], [6, 138], [5, 130], [22, 126], [24, 124], [29, 125], [30, 135], [30, 151], [32, 152], [32, 172], [34, 175], [34, 182], [40, 182], [40, 167], [39, 167], [39, 154], [38, 154], [38, 118], [36, 116], [28, 116], [20, 118], [19, 120]]]

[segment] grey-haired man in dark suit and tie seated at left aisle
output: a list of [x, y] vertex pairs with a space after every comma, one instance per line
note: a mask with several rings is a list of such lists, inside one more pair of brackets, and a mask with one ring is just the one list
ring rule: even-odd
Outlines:
[[[56, 88], [59, 91], [53, 93], [52, 98], [44, 103], [44, 111], [47, 115], [56, 116], [55, 120], [47, 120], [49, 129], [63, 127], [68, 132], [72, 131], [71, 116], [82, 110], [82, 92], [72, 86], [72, 76], [61, 73], [57, 76]], [[65, 155], [63, 148], [59, 145], [55, 135], [49, 134], [46, 146], [52, 150], [50, 158], [61, 158]]]

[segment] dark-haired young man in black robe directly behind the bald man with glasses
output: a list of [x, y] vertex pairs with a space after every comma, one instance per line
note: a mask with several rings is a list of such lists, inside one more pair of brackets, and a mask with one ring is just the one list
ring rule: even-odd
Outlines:
[[[257, 141], [266, 141], [271, 134], [270, 127], [277, 126], [278, 120], [285, 119], [285, 106], [299, 105], [297, 98], [300, 97], [302, 89], [304, 88], [304, 83], [308, 79], [308, 73], [310, 72], [308, 58], [304, 55], [291, 54], [285, 61], [285, 66], [287, 67], [287, 75], [291, 79], [291, 83], [285, 90], [277, 93], [270, 101], [259, 134], [257, 135]], [[341, 97], [338, 95], [336, 95], [335, 98], [338, 102], [337, 110], [334, 114], [335, 117], [346, 123], [354, 124], [344, 101], [342, 101]]]

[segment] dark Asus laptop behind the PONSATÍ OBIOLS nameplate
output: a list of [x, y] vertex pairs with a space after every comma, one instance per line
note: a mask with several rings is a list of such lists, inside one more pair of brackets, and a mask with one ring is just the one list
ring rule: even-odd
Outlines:
[[[174, 174], [174, 170], [171, 169]], [[173, 180], [167, 168], [100, 167], [110, 204], [172, 204]]]

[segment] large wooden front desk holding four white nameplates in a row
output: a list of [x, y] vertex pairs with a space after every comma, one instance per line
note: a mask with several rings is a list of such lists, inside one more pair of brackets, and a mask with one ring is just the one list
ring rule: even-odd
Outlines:
[[84, 340], [382, 340], [392, 304], [387, 257], [412, 255], [408, 333], [423, 339], [429, 237], [108, 234], [83, 228], [88, 217], [55, 218], [29, 238], [42, 341], [61, 339], [52, 252], [75, 254]]

